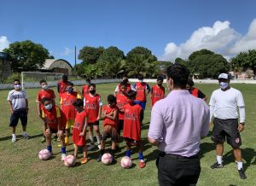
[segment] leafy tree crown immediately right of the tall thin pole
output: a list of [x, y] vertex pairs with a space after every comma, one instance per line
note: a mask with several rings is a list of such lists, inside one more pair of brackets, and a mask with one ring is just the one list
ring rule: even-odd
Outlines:
[[96, 61], [100, 58], [102, 53], [104, 52], [103, 47], [90, 47], [85, 46], [83, 49], [79, 51], [79, 60], [82, 60], [83, 65], [85, 64], [95, 64]]

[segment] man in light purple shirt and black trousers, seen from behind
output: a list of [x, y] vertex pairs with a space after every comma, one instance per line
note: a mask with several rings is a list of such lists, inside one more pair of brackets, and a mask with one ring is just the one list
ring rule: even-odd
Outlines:
[[201, 172], [201, 137], [207, 137], [210, 111], [206, 102], [189, 94], [189, 70], [182, 65], [167, 68], [171, 93], [154, 104], [148, 142], [158, 146], [160, 185], [195, 185]]

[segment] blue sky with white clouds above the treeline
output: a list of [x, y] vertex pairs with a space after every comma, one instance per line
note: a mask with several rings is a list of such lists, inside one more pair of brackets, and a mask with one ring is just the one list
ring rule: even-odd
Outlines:
[[75, 45], [125, 54], [143, 46], [166, 61], [202, 48], [229, 58], [256, 49], [255, 9], [253, 0], [0, 0], [0, 50], [29, 39], [72, 64]]

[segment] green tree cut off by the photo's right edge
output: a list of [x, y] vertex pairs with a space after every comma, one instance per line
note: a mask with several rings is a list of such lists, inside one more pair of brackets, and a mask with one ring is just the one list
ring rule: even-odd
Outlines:
[[247, 52], [241, 52], [239, 55], [231, 59], [232, 68], [235, 71], [253, 69], [254, 75], [256, 74], [256, 50], [249, 49]]

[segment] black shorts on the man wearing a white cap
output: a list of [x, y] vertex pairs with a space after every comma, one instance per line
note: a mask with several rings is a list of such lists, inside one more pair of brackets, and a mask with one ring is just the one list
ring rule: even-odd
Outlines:
[[241, 137], [237, 127], [238, 119], [213, 119], [212, 141], [224, 143], [227, 138], [227, 142], [232, 148], [239, 148]]

